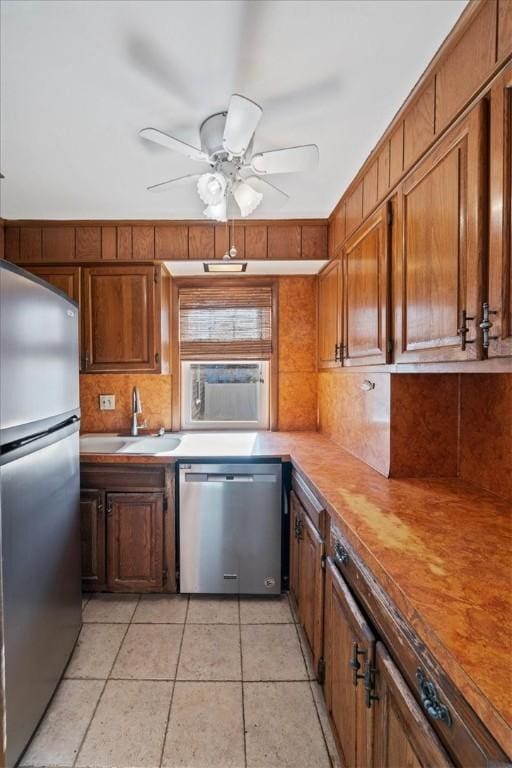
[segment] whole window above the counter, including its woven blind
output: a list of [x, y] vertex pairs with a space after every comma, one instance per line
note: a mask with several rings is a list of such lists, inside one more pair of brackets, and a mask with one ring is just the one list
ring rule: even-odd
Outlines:
[[273, 286], [179, 288], [182, 429], [269, 429]]

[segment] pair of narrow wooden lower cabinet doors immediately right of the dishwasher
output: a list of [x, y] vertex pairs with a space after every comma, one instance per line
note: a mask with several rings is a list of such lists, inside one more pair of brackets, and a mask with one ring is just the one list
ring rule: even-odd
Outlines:
[[293, 491], [290, 508], [290, 590], [309, 644], [313, 667], [321, 678], [325, 545]]

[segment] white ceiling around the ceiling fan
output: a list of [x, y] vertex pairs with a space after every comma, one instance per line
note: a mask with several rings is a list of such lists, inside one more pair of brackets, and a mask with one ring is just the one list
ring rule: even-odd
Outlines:
[[198, 218], [203, 166], [145, 126], [198, 144], [239, 92], [264, 109], [255, 151], [316, 142], [311, 174], [253, 217], [327, 216], [466, 0], [2, 0], [5, 218]]

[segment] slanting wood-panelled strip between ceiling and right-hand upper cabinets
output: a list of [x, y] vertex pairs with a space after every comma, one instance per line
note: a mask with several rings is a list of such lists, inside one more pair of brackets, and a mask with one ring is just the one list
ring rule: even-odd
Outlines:
[[331, 257], [511, 55], [512, 0], [471, 0], [331, 213]]

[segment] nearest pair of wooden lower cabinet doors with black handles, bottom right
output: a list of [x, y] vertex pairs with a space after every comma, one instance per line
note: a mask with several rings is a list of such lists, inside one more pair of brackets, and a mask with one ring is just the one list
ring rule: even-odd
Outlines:
[[330, 558], [325, 698], [344, 768], [453, 765]]

